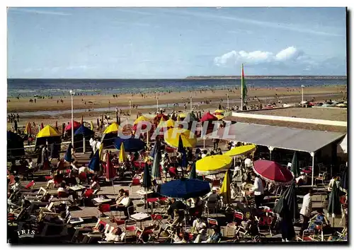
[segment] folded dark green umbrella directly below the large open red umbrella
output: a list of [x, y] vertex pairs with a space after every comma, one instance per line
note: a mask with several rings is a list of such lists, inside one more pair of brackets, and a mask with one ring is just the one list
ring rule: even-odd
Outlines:
[[275, 207], [273, 208], [274, 213], [280, 214], [283, 210], [283, 207], [285, 206], [284, 203], [286, 203], [288, 213], [293, 221], [299, 219], [300, 216], [299, 206], [297, 204], [297, 192], [295, 185], [295, 181], [292, 181], [292, 184], [290, 184], [290, 186], [285, 190], [282, 196], [280, 196], [280, 200], [278, 201], [278, 203], [275, 204]]

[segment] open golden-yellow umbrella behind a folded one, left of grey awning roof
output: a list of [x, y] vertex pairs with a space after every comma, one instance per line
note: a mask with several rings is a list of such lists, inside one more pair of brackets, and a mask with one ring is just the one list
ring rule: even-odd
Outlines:
[[194, 133], [190, 132], [187, 129], [169, 129], [164, 133], [165, 142], [173, 147], [178, 148], [178, 140], [181, 135], [183, 146], [185, 148], [194, 148], [195, 144], [197, 144], [197, 139], [194, 136]]

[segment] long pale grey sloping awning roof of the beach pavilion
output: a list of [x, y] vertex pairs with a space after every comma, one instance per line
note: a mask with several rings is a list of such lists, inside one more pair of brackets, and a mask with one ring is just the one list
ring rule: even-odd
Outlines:
[[[324, 148], [324, 146], [340, 140], [345, 135], [345, 133], [246, 124], [242, 122], [236, 122], [236, 124], [231, 124], [217, 131], [217, 136], [225, 140], [236, 140], [243, 143], [308, 153], [316, 152]], [[210, 133], [207, 138], [215, 138], [215, 134]]]

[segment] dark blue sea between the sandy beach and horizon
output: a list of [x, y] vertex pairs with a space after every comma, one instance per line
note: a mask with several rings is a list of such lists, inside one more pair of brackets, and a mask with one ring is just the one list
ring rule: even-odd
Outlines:
[[[347, 85], [346, 78], [331, 79], [245, 79], [251, 88], [299, 88]], [[8, 78], [8, 97], [69, 95], [69, 90], [81, 95], [124, 93], [154, 93], [185, 90], [240, 88], [239, 79], [14, 79]]]

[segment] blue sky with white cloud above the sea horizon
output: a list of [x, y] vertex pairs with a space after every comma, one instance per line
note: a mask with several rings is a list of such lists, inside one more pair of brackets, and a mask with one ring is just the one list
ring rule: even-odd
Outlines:
[[345, 8], [9, 8], [8, 78], [345, 75]]

